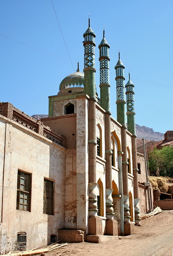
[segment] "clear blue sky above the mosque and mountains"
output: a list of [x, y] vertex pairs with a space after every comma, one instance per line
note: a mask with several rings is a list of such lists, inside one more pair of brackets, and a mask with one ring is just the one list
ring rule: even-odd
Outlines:
[[135, 85], [136, 123], [155, 132], [173, 130], [172, 0], [1, 0], [0, 101], [30, 116], [48, 114], [48, 96], [56, 95], [63, 78], [76, 71], [78, 58], [83, 72], [89, 13], [96, 34], [98, 94], [103, 26], [110, 45], [112, 116], [116, 119], [114, 67], [119, 50], [125, 83], [130, 70]]

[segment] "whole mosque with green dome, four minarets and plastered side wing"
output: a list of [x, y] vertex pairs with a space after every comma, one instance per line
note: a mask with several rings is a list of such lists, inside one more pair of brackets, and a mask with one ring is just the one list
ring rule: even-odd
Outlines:
[[125, 85], [119, 55], [115, 120], [110, 46], [103, 31], [99, 98], [90, 20], [83, 37], [84, 73], [78, 63], [62, 80], [48, 117], [35, 120], [0, 103], [1, 254], [57, 240], [99, 242], [140, 226], [134, 84], [129, 76]]

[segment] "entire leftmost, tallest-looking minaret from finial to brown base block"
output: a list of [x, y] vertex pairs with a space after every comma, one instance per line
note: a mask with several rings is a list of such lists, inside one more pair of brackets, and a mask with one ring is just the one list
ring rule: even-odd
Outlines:
[[89, 27], [84, 37], [84, 92], [88, 99], [88, 172], [89, 172], [89, 219], [88, 232], [98, 234], [97, 180], [96, 180], [96, 107], [95, 107], [95, 34]]

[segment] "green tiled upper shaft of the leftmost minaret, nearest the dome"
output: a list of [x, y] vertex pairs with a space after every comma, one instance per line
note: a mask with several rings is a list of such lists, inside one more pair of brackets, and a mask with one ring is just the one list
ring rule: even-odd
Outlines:
[[84, 37], [84, 86], [85, 94], [95, 98], [95, 33], [89, 27], [83, 34]]

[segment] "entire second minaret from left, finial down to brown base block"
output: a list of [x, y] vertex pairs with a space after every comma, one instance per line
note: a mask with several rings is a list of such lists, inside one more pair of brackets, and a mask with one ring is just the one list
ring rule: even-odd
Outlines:
[[[104, 38], [99, 44], [100, 49], [100, 106], [106, 111], [104, 114], [105, 131], [105, 175], [106, 175], [106, 230], [107, 235], [118, 233], [117, 223], [113, 219], [112, 199], [112, 150], [111, 150], [111, 121], [110, 121], [110, 83], [109, 83], [109, 44]], [[114, 228], [113, 228], [114, 227]]]

